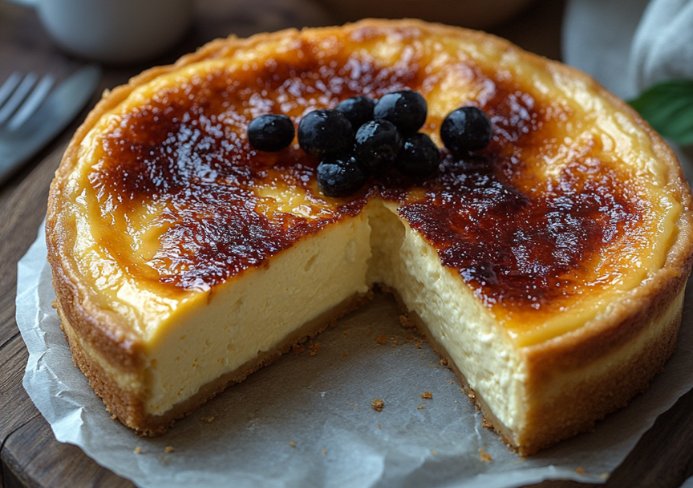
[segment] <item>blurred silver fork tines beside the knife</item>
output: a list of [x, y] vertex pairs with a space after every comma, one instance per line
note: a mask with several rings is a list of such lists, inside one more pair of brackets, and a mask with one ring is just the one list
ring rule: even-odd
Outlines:
[[0, 126], [7, 122], [8, 130], [17, 130], [36, 112], [54, 82], [51, 75], [41, 78], [38, 84], [37, 79], [35, 73], [12, 73], [0, 87]]

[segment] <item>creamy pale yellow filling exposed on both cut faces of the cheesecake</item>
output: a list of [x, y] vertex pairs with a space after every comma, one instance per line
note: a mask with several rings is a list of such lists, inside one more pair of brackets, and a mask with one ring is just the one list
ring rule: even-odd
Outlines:
[[[435, 250], [396, 215], [395, 206], [380, 200], [303, 239], [271, 266], [185, 301], [156, 324], [144, 353], [147, 413], [166, 413], [373, 283], [397, 290], [494, 415], [518, 427], [525, 377], [518, 350], [459, 276], [441, 266]], [[122, 386], [131, 389], [127, 378], [120, 377]]]

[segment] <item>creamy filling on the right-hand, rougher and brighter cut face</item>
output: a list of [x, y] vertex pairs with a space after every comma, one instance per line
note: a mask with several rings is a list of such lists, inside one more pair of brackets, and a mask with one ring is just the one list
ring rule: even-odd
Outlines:
[[395, 205], [371, 205], [369, 216], [369, 283], [397, 290], [493, 414], [508, 428], [518, 428], [526, 378], [519, 349], [459, 274], [441, 266], [435, 249], [397, 216]]

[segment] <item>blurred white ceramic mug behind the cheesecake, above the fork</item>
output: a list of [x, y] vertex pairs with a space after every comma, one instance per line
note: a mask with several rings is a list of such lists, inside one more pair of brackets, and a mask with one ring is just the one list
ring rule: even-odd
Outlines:
[[104, 63], [144, 61], [178, 41], [192, 0], [12, 0], [36, 8], [55, 42]]

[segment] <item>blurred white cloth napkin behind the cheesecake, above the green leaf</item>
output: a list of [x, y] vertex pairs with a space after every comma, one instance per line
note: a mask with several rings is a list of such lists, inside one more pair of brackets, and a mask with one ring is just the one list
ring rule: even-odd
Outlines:
[[693, 0], [570, 0], [563, 60], [625, 99], [693, 79]]

